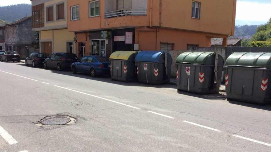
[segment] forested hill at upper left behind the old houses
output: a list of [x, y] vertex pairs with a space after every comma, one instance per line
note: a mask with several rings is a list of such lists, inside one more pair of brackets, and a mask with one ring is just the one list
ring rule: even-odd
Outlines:
[[11, 23], [26, 16], [31, 16], [30, 4], [0, 6], [0, 19], [3, 21]]

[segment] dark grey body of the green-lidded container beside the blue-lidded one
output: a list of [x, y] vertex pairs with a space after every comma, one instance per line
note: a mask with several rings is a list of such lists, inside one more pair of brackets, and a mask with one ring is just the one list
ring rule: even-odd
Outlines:
[[[186, 68], [190, 67], [190, 75]], [[221, 85], [223, 65], [218, 65], [217, 82], [214, 83], [214, 65], [176, 63], [178, 91], [198, 94], [218, 93]]]

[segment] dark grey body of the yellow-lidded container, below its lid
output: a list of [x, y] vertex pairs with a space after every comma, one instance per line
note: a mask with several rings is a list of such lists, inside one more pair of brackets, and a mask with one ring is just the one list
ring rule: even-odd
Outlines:
[[135, 54], [131, 55], [128, 60], [110, 59], [111, 79], [131, 82], [136, 81]]

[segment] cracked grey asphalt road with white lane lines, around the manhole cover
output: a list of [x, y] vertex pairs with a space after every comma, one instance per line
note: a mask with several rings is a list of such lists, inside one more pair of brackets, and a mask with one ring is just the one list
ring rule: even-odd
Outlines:
[[[1, 152], [270, 152], [271, 107], [0, 63]], [[51, 115], [76, 118], [41, 126]]]

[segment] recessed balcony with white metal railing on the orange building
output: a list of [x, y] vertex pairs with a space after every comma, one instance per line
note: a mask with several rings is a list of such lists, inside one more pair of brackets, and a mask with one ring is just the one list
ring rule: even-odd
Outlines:
[[146, 15], [147, 0], [105, 0], [105, 18]]

